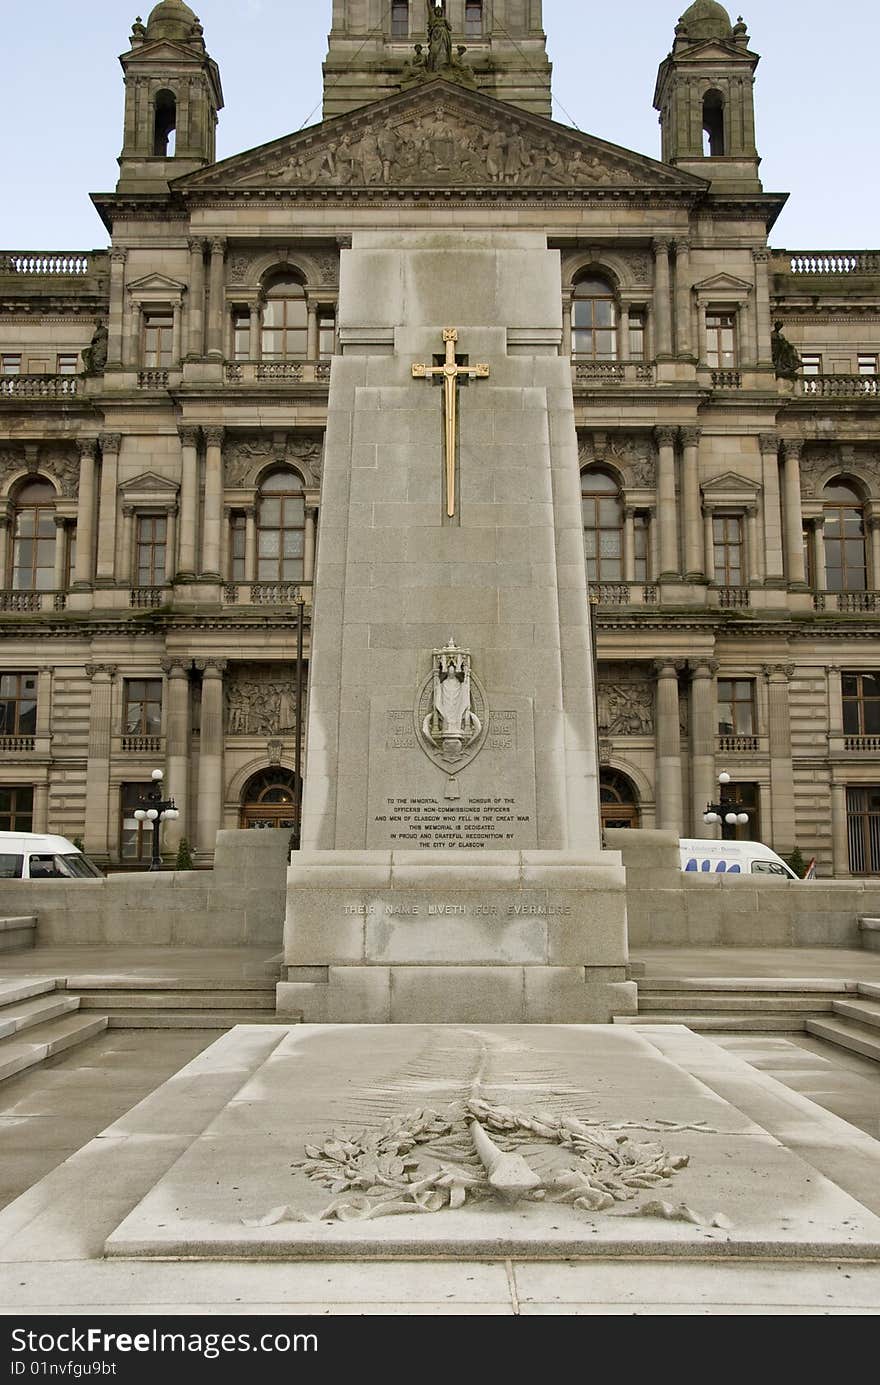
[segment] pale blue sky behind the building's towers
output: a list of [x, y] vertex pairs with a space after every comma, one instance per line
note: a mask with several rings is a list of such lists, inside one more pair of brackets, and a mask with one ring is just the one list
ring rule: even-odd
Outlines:
[[[686, 3], [545, 0], [556, 119], [658, 158], [654, 80]], [[880, 7], [874, 0], [743, 4], [762, 55], [764, 186], [791, 193], [773, 245], [879, 247]], [[220, 158], [320, 118], [330, 0], [194, 0], [194, 8], [223, 76]], [[137, 0], [40, 0], [36, 11], [14, 6], [4, 14], [1, 249], [107, 244], [89, 193], [115, 184], [123, 96], [116, 57], [127, 48], [136, 12]]]

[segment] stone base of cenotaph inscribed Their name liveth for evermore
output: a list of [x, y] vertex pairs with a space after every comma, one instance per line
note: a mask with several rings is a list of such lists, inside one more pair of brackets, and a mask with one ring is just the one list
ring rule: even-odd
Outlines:
[[617, 852], [301, 852], [279, 1014], [607, 1024], [636, 1012]]

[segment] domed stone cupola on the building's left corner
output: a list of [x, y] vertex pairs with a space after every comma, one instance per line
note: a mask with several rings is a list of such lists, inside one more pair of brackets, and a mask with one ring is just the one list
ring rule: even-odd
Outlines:
[[119, 193], [162, 193], [170, 179], [213, 163], [223, 89], [198, 17], [161, 0], [132, 26], [125, 72], [125, 140]]

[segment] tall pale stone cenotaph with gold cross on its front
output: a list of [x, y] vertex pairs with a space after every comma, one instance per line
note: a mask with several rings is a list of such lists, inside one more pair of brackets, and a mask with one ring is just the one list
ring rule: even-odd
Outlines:
[[355, 233], [340, 341], [279, 1010], [635, 1012], [558, 252], [531, 231]]

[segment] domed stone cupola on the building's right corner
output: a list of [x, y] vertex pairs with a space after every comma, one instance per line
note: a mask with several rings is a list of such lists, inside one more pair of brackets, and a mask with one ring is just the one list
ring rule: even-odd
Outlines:
[[694, 0], [660, 65], [662, 159], [712, 183], [718, 193], [759, 193], [754, 79], [759, 57], [716, 0]]

